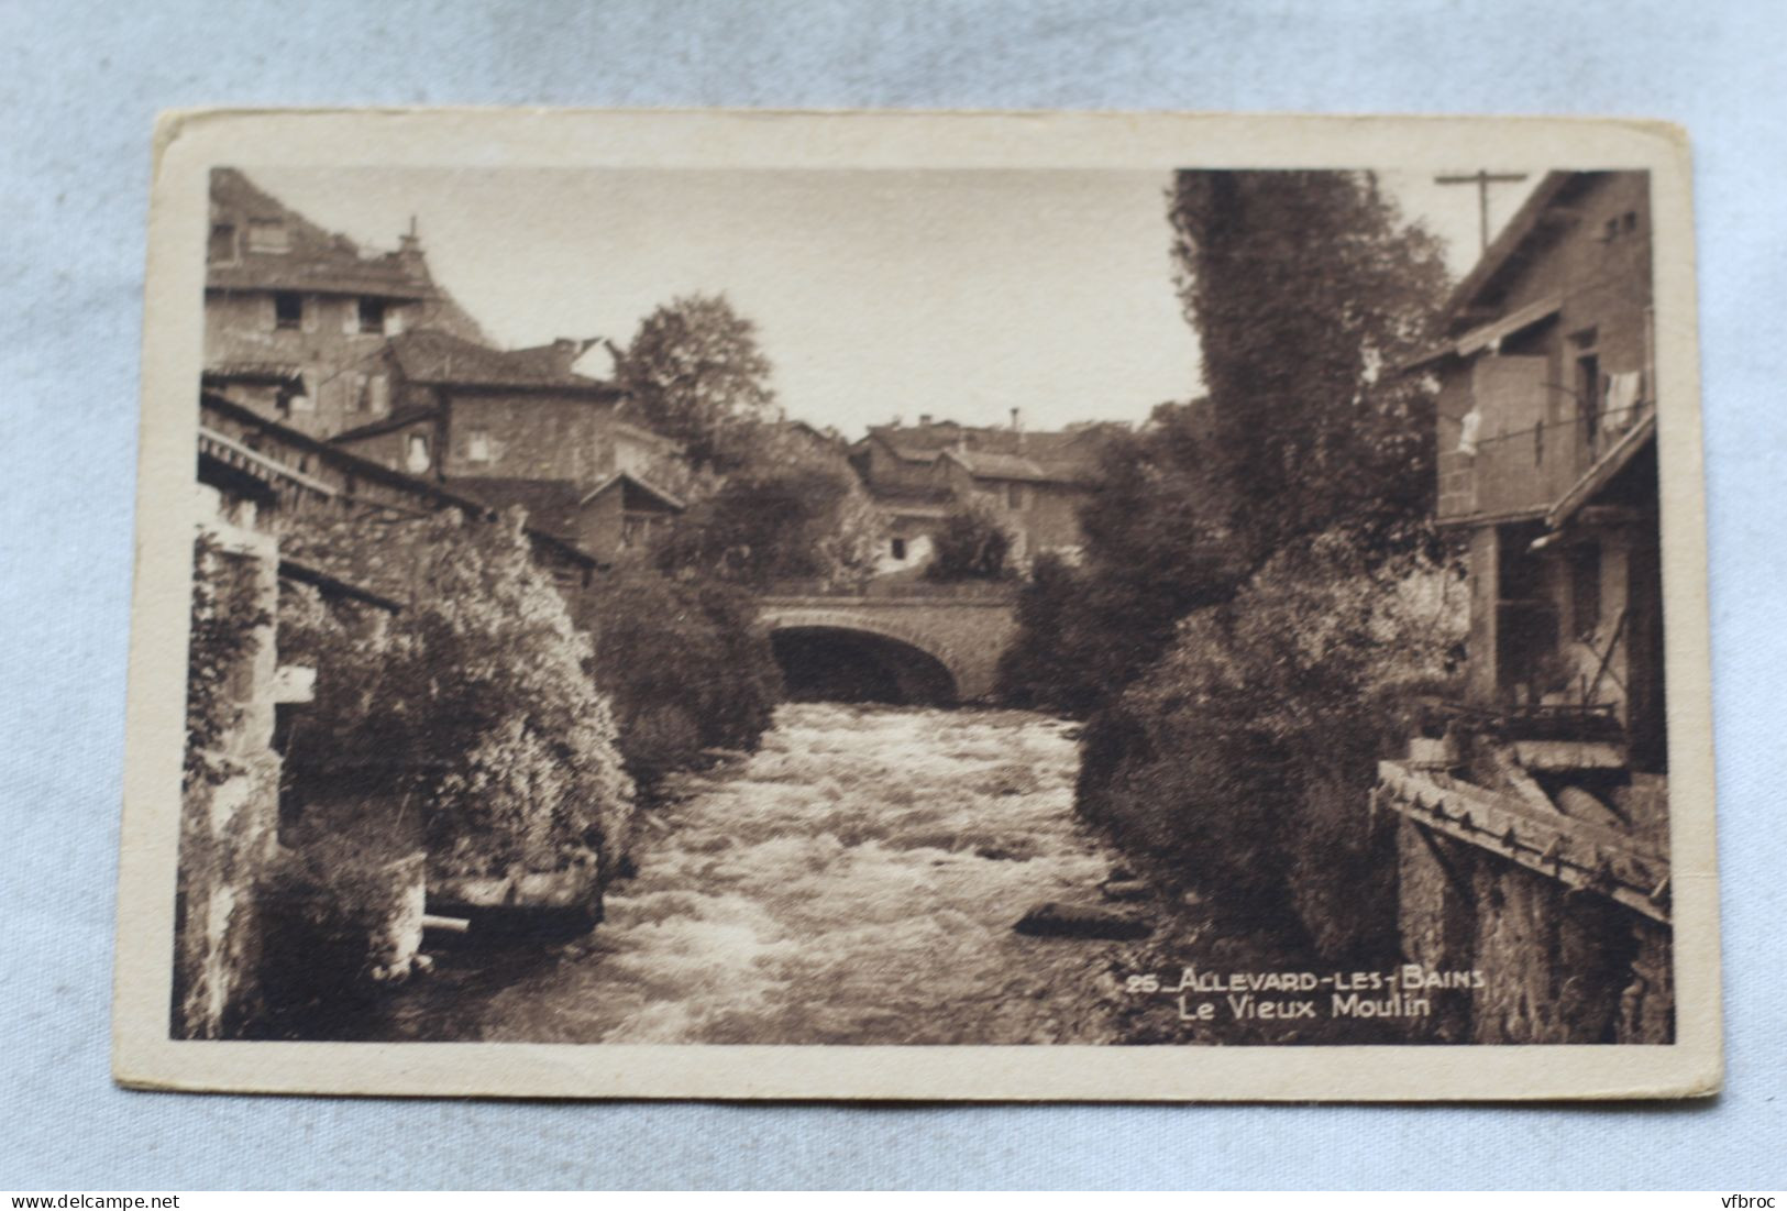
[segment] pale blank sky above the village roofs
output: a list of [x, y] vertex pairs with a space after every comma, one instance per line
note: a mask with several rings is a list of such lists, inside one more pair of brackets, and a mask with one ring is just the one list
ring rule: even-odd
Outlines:
[[[724, 293], [788, 416], [852, 438], [1013, 407], [1029, 429], [1140, 422], [1199, 389], [1163, 171], [243, 170], [363, 252], [413, 216], [436, 282], [506, 348], [625, 345], [659, 304]], [[1492, 223], [1537, 180], [1494, 189]], [[1462, 275], [1476, 189], [1383, 182]]]

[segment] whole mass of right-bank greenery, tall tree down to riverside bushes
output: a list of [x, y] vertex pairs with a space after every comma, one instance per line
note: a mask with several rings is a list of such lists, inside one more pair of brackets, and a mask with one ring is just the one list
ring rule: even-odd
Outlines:
[[1086, 557], [1035, 570], [1003, 688], [1086, 720], [1083, 814], [1238, 916], [1371, 952], [1372, 763], [1462, 641], [1433, 400], [1394, 372], [1440, 248], [1367, 173], [1181, 171], [1169, 214], [1206, 397], [1113, 443]]

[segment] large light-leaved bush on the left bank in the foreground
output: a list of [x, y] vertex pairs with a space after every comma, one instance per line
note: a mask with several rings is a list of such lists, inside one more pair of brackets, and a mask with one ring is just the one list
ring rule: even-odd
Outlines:
[[[454, 514], [343, 534], [288, 536], [293, 552], [381, 550], [407, 563], [409, 600], [382, 625], [350, 627], [313, 595], [282, 604], [281, 659], [315, 664], [316, 700], [293, 731], [288, 773], [424, 813], [431, 866], [556, 870], [625, 847], [633, 784], [608, 698], [520, 516]], [[402, 554], [393, 554], [400, 550]]]

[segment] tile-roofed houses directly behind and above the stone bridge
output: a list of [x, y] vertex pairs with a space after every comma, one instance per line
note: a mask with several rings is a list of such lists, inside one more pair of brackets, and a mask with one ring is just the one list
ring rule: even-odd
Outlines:
[[851, 464], [888, 516], [879, 572], [922, 568], [931, 536], [949, 513], [979, 505], [1011, 536], [1019, 561], [1044, 552], [1076, 557], [1079, 505], [1097, 472], [1099, 432], [1026, 432], [920, 416], [917, 425], [870, 425]]

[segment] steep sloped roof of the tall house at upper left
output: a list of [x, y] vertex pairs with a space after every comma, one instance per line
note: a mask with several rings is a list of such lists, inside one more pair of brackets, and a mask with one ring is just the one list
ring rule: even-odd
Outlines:
[[[211, 171], [211, 221], [236, 227], [236, 257], [207, 261], [211, 289], [298, 289], [322, 295], [434, 298], [420, 252], [363, 257], [347, 236], [323, 230], [234, 168]], [[284, 252], [257, 252], [254, 223], [281, 223]]]

